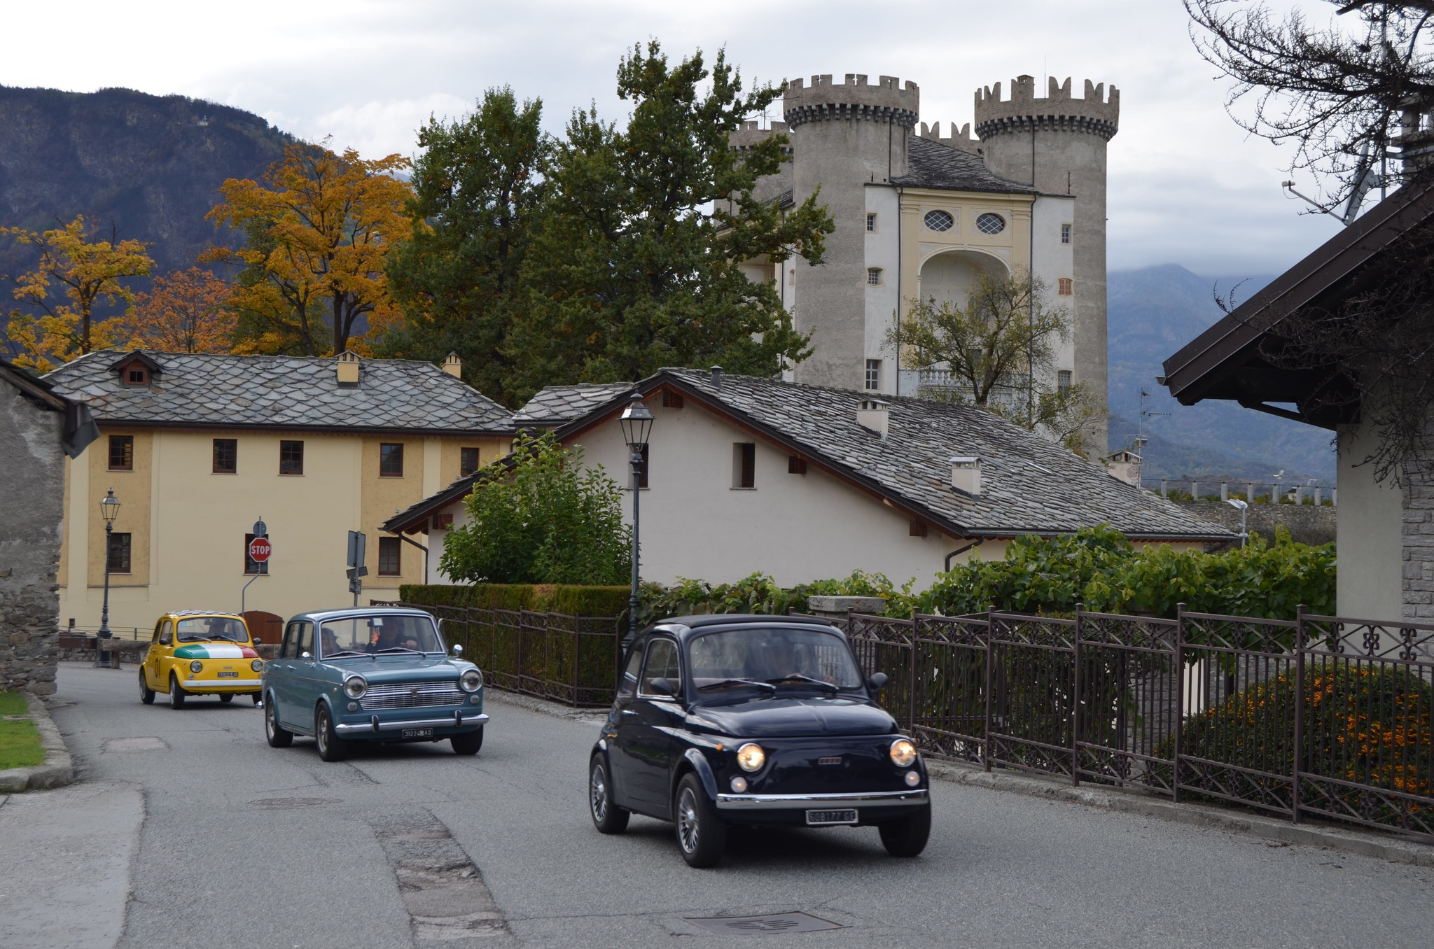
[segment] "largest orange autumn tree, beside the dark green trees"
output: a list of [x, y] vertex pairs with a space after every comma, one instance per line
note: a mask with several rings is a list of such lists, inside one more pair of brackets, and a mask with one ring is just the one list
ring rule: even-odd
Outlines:
[[204, 259], [241, 267], [232, 295], [237, 348], [367, 351], [360, 334], [400, 318], [384, 261], [413, 229], [406, 214], [412, 189], [393, 176], [409, 166], [399, 155], [366, 161], [354, 149], [337, 155], [295, 143], [262, 182], [231, 178], [219, 186], [224, 204], [208, 216], [244, 231], [247, 244], [215, 248]]

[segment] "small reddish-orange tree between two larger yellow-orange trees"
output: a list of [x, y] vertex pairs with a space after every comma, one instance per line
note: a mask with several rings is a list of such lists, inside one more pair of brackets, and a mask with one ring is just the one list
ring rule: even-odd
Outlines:
[[229, 284], [199, 267], [155, 277], [125, 318], [129, 345], [165, 353], [229, 353], [235, 327], [231, 297]]

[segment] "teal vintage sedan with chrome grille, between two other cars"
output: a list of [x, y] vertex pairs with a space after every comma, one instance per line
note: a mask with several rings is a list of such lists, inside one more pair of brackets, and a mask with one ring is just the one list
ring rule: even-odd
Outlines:
[[341, 761], [354, 741], [443, 741], [483, 747], [483, 674], [452, 655], [422, 609], [298, 614], [277, 659], [264, 665], [264, 734], [287, 748], [313, 735], [318, 757]]

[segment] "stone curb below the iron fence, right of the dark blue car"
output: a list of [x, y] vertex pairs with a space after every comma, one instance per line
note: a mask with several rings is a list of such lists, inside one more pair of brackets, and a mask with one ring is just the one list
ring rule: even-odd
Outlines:
[[1207, 804], [1176, 804], [1170, 800], [1121, 788], [1094, 787], [1090, 784], [1071, 787], [1071, 784], [1055, 778], [1043, 778], [1004, 770], [985, 771], [981, 766], [959, 761], [926, 758], [926, 770], [931, 773], [931, 777], [954, 784], [987, 787], [1012, 794], [1025, 794], [1027, 797], [1044, 797], [1047, 800], [1084, 804], [1086, 807], [1097, 807], [1100, 810], [1192, 824], [1195, 827], [1228, 830], [1230, 833], [1275, 840], [1281, 844], [1325, 847], [1390, 860], [1392, 863], [1434, 867], [1434, 847], [1430, 844], [1381, 833], [1364, 833], [1324, 823], [1306, 821], [1292, 824], [1288, 820], [1242, 810], [1212, 807]]

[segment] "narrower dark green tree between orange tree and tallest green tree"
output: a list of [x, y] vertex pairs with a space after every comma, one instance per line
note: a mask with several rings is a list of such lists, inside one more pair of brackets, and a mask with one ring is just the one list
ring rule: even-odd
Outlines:
[[376, 345], [429, 361], [457, 353], [469, 384], [509, 404], [508, 333], [526, 302], [519, 274], [552, 152], [541, 119], [541, 100], [519, 105], [505, 86], [483, 93], [472, 115], [430, 119], [419, 132], [416, 222], [387, 262], [404, 318]]

